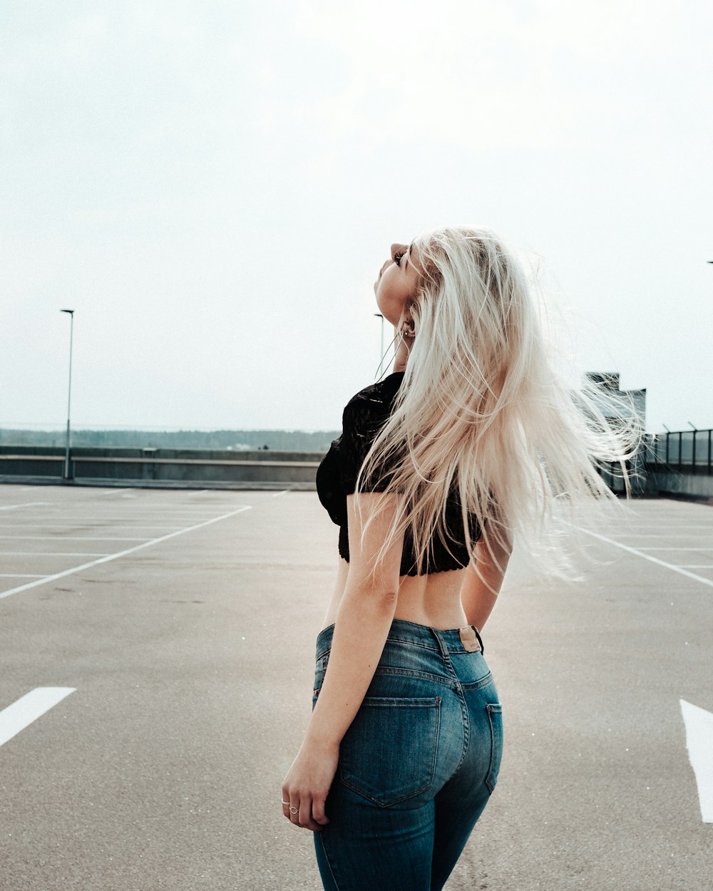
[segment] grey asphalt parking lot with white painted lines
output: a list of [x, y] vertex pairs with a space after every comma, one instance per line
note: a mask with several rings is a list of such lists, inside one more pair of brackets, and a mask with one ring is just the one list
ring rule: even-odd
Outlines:
[[[321, 887], [279, 802], [336, 532], [310, 492], [0, 486], [2, 891]], [[505, 756], [448, 891], [713, 887], [713, 508], [578, 541], [485, 629]]]

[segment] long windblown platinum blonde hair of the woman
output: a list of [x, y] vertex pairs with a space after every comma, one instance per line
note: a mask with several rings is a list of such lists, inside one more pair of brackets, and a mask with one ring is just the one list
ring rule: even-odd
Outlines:
[[447, 547], [453, 495], [469, 553], [472, 514], [491, 553], [517, 536], [537, 554], [555, 503], [615, 497], [596, 468], [618, 462], [627, 479], [635, 423], [612, 424], [595, 396], [572, 394], [554, 371], [526, 274], [495, 233], [437, 229], [416, 238], [412, 254], [421, 267], [407, 307], [414, 346], [356, 480], [358, 510], [365, 479], [380, 467], [391, 471], [386, 495], [399, 496], [376, 564], [409, 530], [419, 571], [428, 571], [433, 536]]

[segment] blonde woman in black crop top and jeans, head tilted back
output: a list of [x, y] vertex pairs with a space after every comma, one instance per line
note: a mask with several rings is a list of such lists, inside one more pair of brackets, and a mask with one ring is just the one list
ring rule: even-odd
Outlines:
[[627, 454], [554, 374], [494, 233], [394, 244], [374, 290], [394, 371], [350, 400], [317, 473], [340, 568], [283, 814], [314, 831], [328, 891], [432, 891], [497, 779], [479, 632], [513, 536], [532, 537], [561, 495], [609, 495], [593, 461]]

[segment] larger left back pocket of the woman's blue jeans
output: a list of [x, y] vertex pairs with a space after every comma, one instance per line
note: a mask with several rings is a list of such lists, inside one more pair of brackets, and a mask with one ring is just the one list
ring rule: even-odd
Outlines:
[[381, 807], [430, 789], [440, 702], [366, 697], [341, 741], [341, 782]]

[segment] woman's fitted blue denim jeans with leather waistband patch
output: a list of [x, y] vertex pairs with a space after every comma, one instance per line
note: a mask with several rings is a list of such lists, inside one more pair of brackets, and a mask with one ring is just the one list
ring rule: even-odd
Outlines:
[[[317, 637], [315, 697], [333, 625]], [[395, 619], [315, 833], [326, 891], [437, 891], [493, 791], [501, 706], [479, 635]]]

